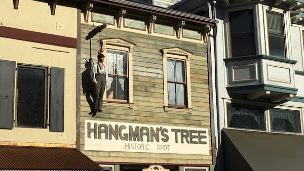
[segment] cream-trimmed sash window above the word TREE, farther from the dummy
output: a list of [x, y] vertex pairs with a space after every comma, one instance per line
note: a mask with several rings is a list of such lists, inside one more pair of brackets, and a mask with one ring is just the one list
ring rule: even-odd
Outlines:
[[192, 111], [189, 60], [191, 53], [179, 48], [162, 49], [164, 108]]

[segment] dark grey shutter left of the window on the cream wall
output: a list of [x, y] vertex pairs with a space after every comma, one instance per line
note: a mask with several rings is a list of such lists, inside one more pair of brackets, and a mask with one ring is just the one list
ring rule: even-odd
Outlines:
[[14, 61], [0, 60], [0, 129], [13, 129]]

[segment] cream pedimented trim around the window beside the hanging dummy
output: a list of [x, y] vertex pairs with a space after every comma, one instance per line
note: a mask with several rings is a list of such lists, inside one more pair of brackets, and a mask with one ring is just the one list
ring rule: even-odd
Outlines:
[[[126, 51], [128, 52], [128, 84], [129, 84], [129, 102], [128, 103], [110, 103], [106, 98], [106, 93], [103, 94], [103, 106], [111, 105], [111, 106], [128, 106], [130, 109], [133, 109], [134, 99], [133, 99], [133, 48], [135, 45], [130, 42], [123, 40], [121, 38], [110, 38], [110, 39], [101, 39], [102, 41], [102, 49], [103, 54], [106, 54], [107, 49], [118, 50], [118, 51]], [[105, 57], [105, 63], [107, 58]]]

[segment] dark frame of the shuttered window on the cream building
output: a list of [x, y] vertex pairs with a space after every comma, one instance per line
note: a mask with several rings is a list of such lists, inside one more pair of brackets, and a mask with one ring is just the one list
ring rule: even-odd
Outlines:
[[[27, 65], [27, 64], [17, 64], [17, 72], [16, 72], [16, 100], [15, 100], [15, 108], [16, 108], [16, 113], [15, 113], [15, 127], [28, 127], [28, 128], [35, 128], [35, 129], [46, 129], [47, 128], [47, 123], [48, 123], [48, 102], [49, 102], [49, 67], [47, 66], [35, 66], [35, 65]], [[34, 126], [21, 126], [18, 125], [18, 68], [28, 68], [28, 69], [41, 69], [44, 70], [44, 103], [43, 103], [43, 126], [42, 127], [34, 127]]]

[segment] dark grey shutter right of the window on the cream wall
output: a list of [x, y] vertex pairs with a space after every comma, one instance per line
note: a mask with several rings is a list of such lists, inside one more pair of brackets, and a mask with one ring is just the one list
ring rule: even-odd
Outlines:
[[50, 80], [50, 131], [63, 132], [64, 68], [51, 68]]

